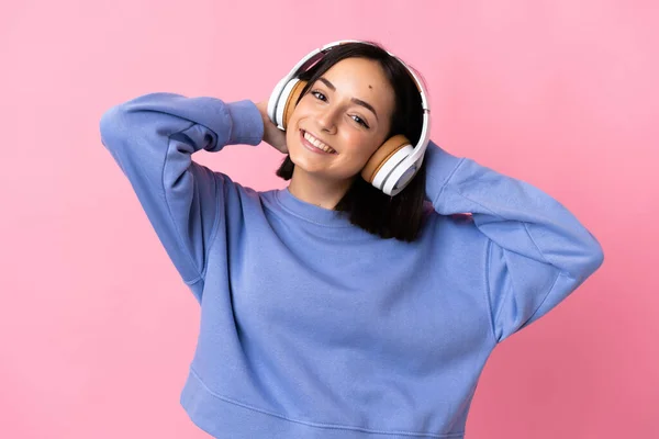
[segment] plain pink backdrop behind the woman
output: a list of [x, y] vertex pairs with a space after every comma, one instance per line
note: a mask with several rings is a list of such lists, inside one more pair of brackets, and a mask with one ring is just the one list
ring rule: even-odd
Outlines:
[[[178, 402], [199, 307], [99, 119], [153, 91], [258, 101], [340, 38], [415, 66], [435, 142], [556, 196], [604, 247], [600, 271], [494, 351], [467, 438], [659, 437], [657, 4], [3, 3], [0, 437], [208, 437]], [[196, 159], [284, 185], [265, 144]]]

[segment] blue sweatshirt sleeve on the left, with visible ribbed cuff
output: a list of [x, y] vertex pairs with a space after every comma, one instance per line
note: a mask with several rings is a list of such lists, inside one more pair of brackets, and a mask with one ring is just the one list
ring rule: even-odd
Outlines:
[[100, 133], [176, 269], [201, 300], [208, 248], [232, 181], [191, 155], [258, 145], [264, 133], [258, 109], [248, 100], [150, 93], [105, 111]]

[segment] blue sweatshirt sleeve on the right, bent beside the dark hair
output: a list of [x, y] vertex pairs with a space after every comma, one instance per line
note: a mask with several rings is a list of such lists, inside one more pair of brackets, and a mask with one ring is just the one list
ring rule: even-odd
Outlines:
[[425, 160], [435, 211], [470, 213], [488, 238], [484, 279], [498, 341], [547, 314], [602, 264], [595, 237], [539, 189], [433, 142]]

